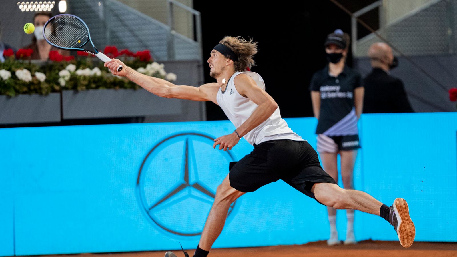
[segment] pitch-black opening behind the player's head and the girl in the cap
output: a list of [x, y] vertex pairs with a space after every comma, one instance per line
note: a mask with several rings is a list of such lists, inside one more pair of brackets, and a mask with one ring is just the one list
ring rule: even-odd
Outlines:
[[[338, 0], [355, 12], [375, 0]], [[311, 117], [313, 109], [308, 91], [311, 76], [326, 65], [325, 37], [342, 29], [351, 35], [351, 17], [330, 0], [290, 1], [279, 4], [266, 1], [194, 1], [202, 14], [203, 60], [205, 83], [209, 76], [206, 60], [224, 36], [252, 37], [259, 42], [253, 69], [266, 84], [266, 91], [278, 103], [282, 117]], [[378, 27], [377, 9], [362, 16], [371, 27]], [[358, 26], [359, 38], [367, 29]], [[351, 39], [352, 40], [352, 39]], [[350, 48], [351, 49], [351, 48]], [[347, 64], [352, 66], [352, 55]], [[207, 119], [227, 119], [213, 102], [207, 102]]]

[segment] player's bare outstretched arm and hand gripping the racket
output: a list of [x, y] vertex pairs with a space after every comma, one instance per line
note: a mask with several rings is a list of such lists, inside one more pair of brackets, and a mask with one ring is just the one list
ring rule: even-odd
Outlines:
[[[122, 65], [123, 69], [121, 71], [116, 70], [118, 65]], [[217, 104], [218, 83], [207, 83], [200, 87], [177, 86], [170, 81], [141, 74], [118, 59], [107, 61], [105, 67], [108, 67], [113, 75], [125, 76], [156, 96], [194, 101], [213, 101]]]

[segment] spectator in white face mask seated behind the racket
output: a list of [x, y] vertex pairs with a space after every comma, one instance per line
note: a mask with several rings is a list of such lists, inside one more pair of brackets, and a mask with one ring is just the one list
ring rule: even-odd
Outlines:
[[58, 51], [59, 54], [69, 55], [68, 51], [63, 51], [58, 48], [51, 46], [43, 36], [43, 26], [52, 17], [50, 12], [37, 12], [33, 16], [33, 25], [35, 25], [35, 31], [33, 32], [32, 44], [25, 46], [25, 49], [32, 49], [33, 53], [30, 57], [32, 60], [47, 60], [49, 59], [50, 51]]

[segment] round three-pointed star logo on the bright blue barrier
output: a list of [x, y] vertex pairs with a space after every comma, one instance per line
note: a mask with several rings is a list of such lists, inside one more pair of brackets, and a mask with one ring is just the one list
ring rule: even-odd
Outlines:
[[[214, 150], [211, 136], [187, 132], [155, 145], [141, 164], [137, 199], [147, 218], [180, 236], [202, 234], [215, 189], [226, 176], [229, 151]], [[232, 213], [232, 203], [227, 215]]]

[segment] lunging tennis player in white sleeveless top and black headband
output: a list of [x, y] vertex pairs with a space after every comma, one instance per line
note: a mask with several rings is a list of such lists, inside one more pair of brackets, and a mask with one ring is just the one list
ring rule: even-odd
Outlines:
[[[244, 193], [279, 179], [335, 209], [356, 209], [379, 215], [397, 231], [402, 246], [412, 245], [414, 224], [408, 204], [396, 198], [393, 205], [379, 202], [367, 193], [340, 188], [320, 166], [316, 151], [289, 128], [281, 118], [275, 100], [265, 91], [262, 77], [250, 70], [255, 65], [257, 42], [242, 37], [224, 37], [207, 60], [210, 75], [217, 82], [199, 87], [176, 86], [169, 81], [143, 75], [118, 59], [107, 61], [112, 74], [126, 76], [147, 91], [162, 97], [212, 101], [219, 105], [235, 125], [233, 133], [214, 139], [213, 148], [231, 150], [241, 138], [254, 150], [230, 169], [218, 186], [194, 257], [206, 257], [221, 233], [228, 208]], [[118, 65], [124, 69], [117, 72]], [[172, 252], [165, 257], [175, 257]]]

